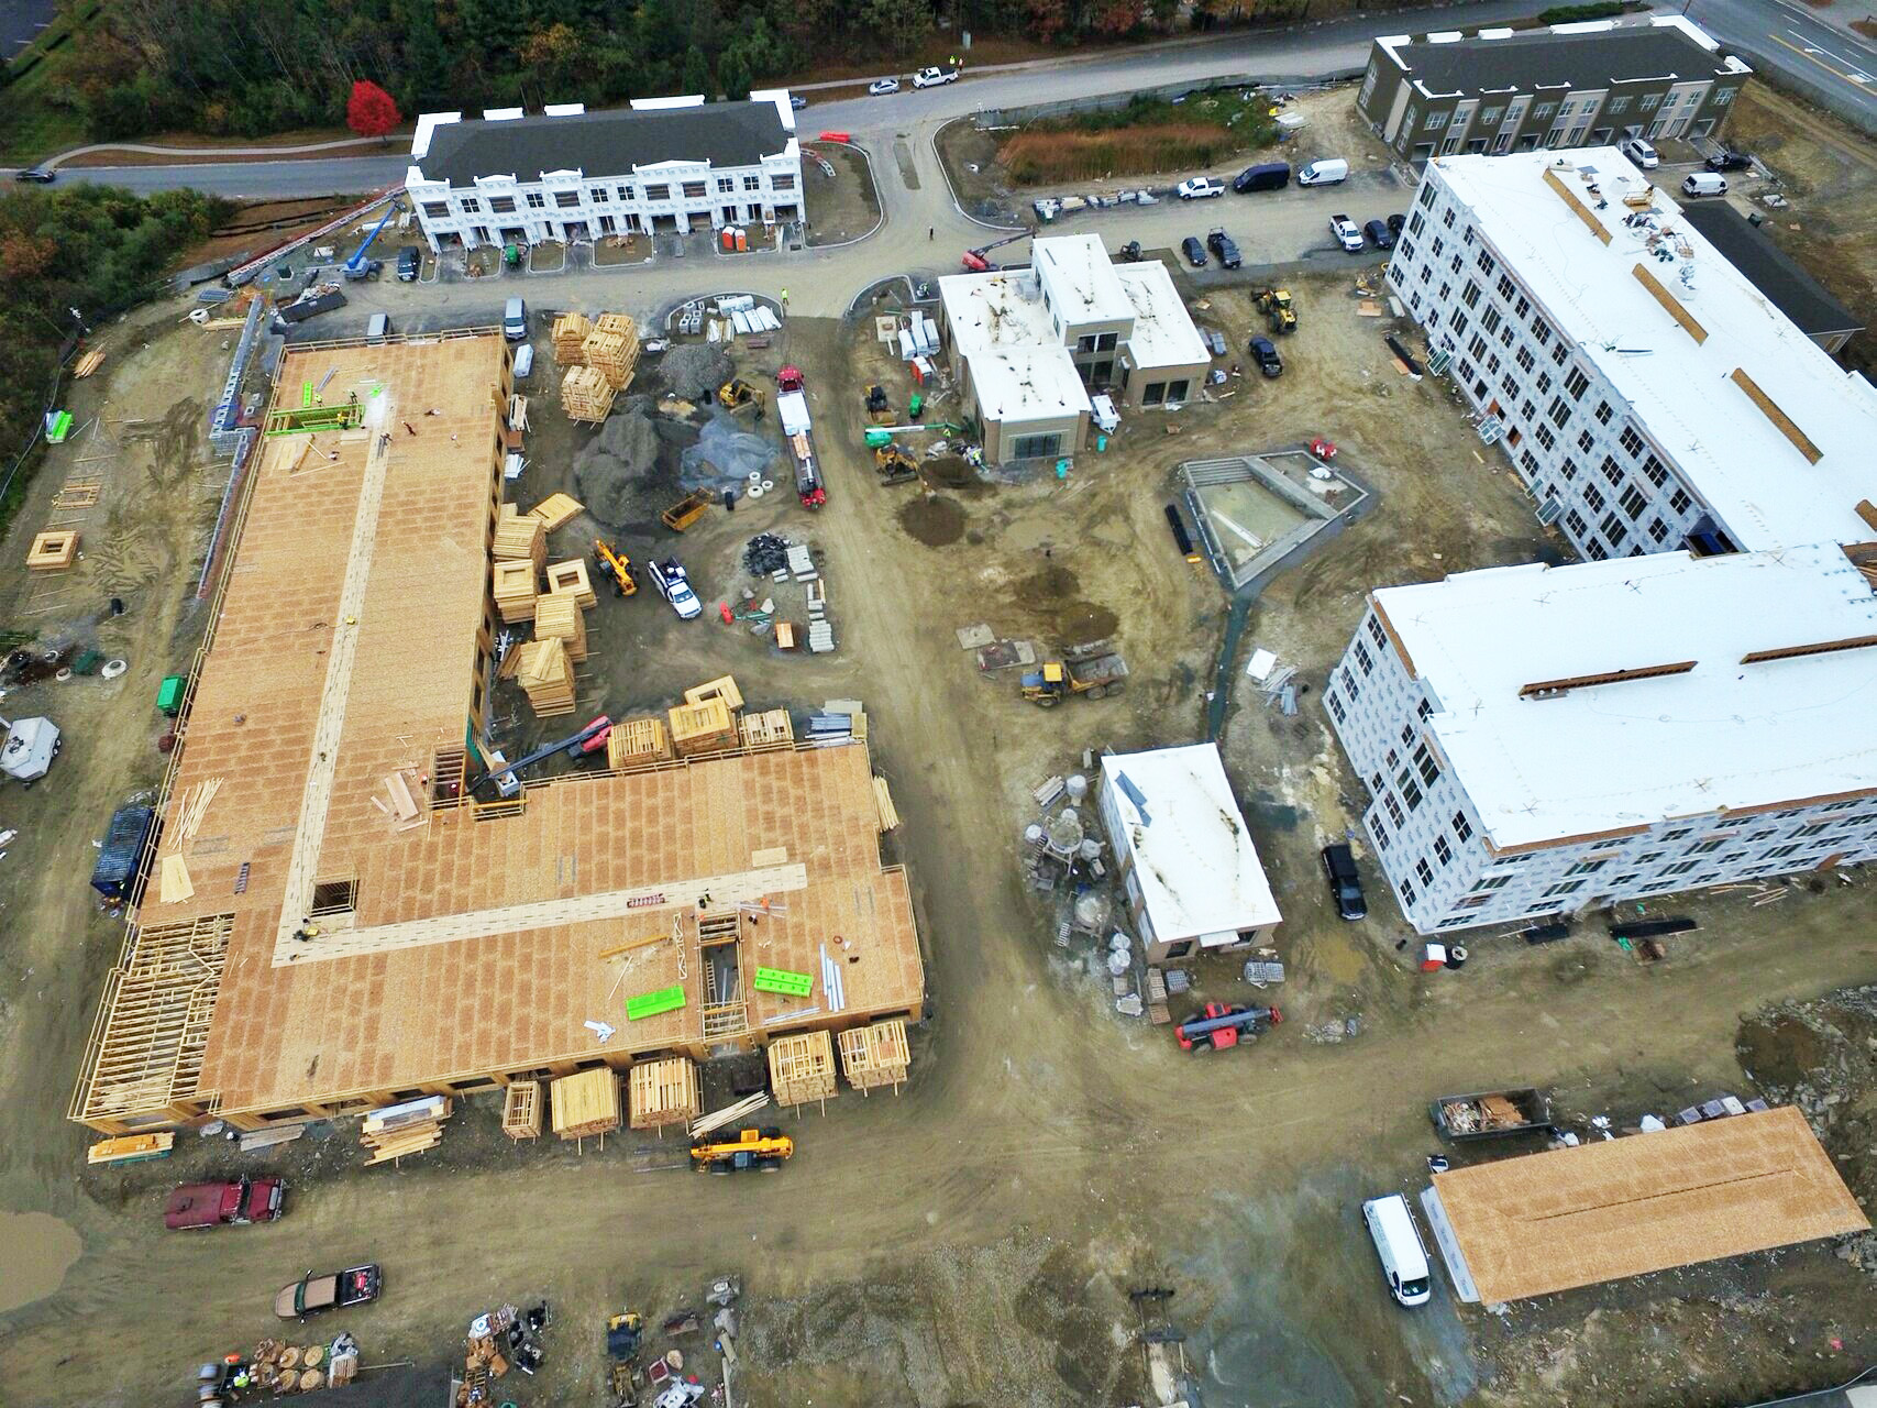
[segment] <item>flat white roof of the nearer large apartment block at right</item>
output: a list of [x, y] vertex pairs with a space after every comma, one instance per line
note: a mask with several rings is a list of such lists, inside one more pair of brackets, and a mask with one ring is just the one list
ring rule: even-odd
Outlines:
[[1877, 636], [1871, 584], [1836, 544], [1492, 567], [1374, 601], [1500, 849], [1877, 788], [1877, 646], [1742, 663]]

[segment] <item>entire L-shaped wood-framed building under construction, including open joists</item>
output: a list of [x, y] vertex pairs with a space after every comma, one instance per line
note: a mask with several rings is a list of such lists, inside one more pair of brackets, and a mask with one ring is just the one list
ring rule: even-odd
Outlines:
[[[71, 1119], [263, 1128], [922, 1018], [863, 743], [467, 787], [509, 366], [497, 332], [283, 357], [276, 407], [359, 424], [255, 449], [141, 871], [182, 860], [191, 892], [131, 892]], [[755, 984], [824, 954], [839, 1010]]]

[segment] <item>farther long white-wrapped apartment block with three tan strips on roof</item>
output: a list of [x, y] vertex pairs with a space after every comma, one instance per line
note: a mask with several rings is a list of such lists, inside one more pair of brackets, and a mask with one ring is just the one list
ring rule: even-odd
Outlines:
[[1877, 390], [1614, 148], [1436, 158], [1387, 276], [1586, 558], [1877, 537]]

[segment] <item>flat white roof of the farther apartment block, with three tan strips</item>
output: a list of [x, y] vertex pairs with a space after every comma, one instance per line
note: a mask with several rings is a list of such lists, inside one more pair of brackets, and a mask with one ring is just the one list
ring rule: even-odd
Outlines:
[[[1877, 390], [1817, 347], [1663, 191], [1629, 223], [1637, 212], [1624, 195], [1650, 182], [1614, 146], [1443, 156], [1430, 167], [1564, 338], [1629, 400], [1740, 548], [1873, 535], [1856, 505], [1877, 499]], [[1547, 169], [1575, 205], [1545, 180]], [[1609, 233], [1609, 244], [1584, 216]], [[1637, 265], [1699, 323], [1704, 342], [1635, 276]], [[1815, 464], [1732, 379], [1734, 370], [1817, 447]]]

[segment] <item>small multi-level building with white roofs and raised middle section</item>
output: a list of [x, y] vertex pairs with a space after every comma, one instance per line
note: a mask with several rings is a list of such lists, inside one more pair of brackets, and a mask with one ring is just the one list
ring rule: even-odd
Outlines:
[[1089, 392], [1147, 409], [1196, 394], [1213, 364], [1166, 265], [1117, 265], [1098, 235], [1032, 242], [1030, 268], [938, 280], [944, 340], [993, 464], [1074, 454]]

